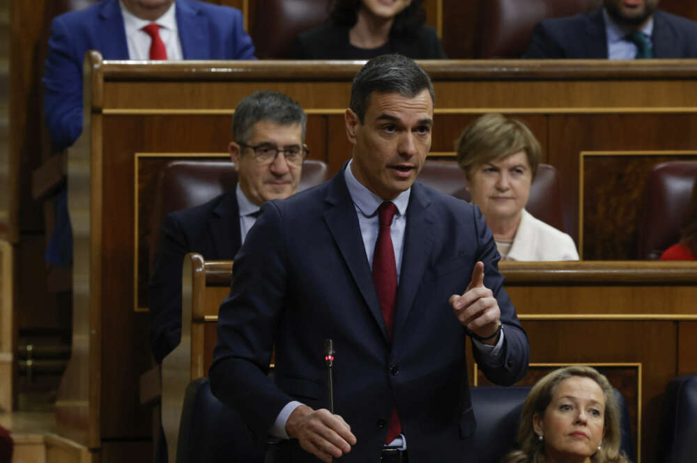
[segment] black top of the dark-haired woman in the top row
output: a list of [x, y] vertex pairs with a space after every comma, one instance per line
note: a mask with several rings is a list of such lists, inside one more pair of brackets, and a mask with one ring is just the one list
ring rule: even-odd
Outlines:
[[348, 27], [327, 22], [301, 33], [293, 40], [289, 58], [293, 59], [369, 59], [379, 54], [397, 53], [412, 59], [445, 59], [441, 39], [429, 26], [421, 26], [414, 38], [391, 37], [386, 47], [362, 50], [348, 42]]

